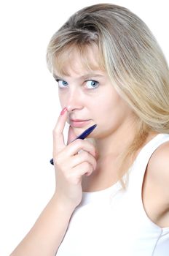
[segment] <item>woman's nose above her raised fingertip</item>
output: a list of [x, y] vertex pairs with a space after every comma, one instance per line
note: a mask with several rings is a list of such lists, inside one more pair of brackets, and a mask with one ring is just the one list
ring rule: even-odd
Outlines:
[[83, 108], [83, 97], [79, 89], [70, 89], [66, 105], [68, 112], [81, 110]]

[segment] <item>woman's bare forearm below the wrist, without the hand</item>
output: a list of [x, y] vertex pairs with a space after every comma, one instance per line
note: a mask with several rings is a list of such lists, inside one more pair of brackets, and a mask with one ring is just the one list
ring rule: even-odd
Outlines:
[[74, 208], [52, 197], [34, 227], [10, 256], [54, 256], [66, 233]]

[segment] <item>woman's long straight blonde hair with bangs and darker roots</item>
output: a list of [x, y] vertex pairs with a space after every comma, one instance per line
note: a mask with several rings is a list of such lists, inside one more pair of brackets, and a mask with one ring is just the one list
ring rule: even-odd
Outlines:
[[53, 35], [47, 65], [64, 70], [76, 49], [91, 67], [88, 47], [98, 46], [98, 64], [106, 70], [120, 96], [138, 117], [138, 130], [127, 157], [140, 148], [149, 131], [169, 133], [169, 71], [162, 50], [146, 24], [133, 12], [114, 4], [95, 4], [76, 12]]

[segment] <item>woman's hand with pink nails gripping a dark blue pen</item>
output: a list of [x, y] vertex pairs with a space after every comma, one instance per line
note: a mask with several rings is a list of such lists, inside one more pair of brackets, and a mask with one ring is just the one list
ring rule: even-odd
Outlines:
[[76, 135], [72, 127], [68, 130], [66, 146], [63, 140], [66, 118], [67, 110], [64, 109], [53, 130], [55, 195], [60, 203], [68, 203], [75, 208], [82, 200], [82, 176], [89, 176], [96, 168], [95, 147], [87, 140], [74, 140]]

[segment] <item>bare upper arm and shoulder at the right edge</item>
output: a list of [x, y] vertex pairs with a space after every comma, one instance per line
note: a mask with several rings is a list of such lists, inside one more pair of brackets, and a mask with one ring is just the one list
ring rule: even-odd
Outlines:
[[152, 154], [146, 168], [142, 199], [146, 214], [160, 227], [169, 226], [169, 142]]

